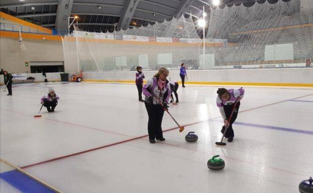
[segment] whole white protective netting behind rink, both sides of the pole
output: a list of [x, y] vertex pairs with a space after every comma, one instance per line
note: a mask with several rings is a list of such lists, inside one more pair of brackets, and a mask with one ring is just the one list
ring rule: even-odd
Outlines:
[[63, 39], [66, 71], [292, 67], [313, 58], [313, 1], [230, 6], [206, 8], [205, 63], [198, 19], [182, 16], [113, 33], [76, 28]]

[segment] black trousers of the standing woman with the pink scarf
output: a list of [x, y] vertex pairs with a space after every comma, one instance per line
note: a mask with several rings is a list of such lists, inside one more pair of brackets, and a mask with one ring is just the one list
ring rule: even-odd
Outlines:
[[164, 108], [161, 105], [153, 105], [144, 102], [145, 108], [148, 112], [148, 134], [149, 139], [160, 139], [163, 138], [162, 131], [162, 119], [164, 115]]

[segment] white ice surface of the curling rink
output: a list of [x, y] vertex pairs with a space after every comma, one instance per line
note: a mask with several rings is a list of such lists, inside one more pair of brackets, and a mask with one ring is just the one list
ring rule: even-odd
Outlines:
[[[43, 108], [34, 118], [49, 87], [61, 98], [56, 112]], [[180, 85], [180, 103], [169, 110], [191, 125], [164, 132], [164, 142], [138, 138], [25, 170], [62, 192], [298, 192], [313, 175], [313, 89], [245, 87], [234, 141], [220, 147], [217, 88]], [[147, 134], [135, 85], [20, 84], [13, 96], [0, 94], [1, 159], [20, 167]], [[165, 113], [162, 127], [177, 125]], [[189, 131], [196, 143], [185, 141]], [[216, 154], [223, 170], [207, 167]]]

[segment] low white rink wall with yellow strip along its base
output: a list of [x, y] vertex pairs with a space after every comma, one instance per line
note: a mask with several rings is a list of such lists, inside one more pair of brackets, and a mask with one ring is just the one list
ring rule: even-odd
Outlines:
[[[156, 71], [144, 72], [145, 80]], [[84, 72], [85, 82], [133, 83], [135, 72]], [[190, 70], [186, 84], [259, 85], [313, 87], [313, 68]], [[169, 78], [180, 82], [179, 71], [170, 71]]]

